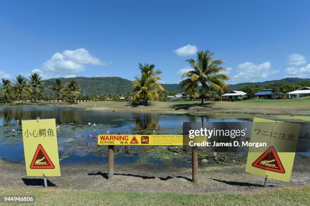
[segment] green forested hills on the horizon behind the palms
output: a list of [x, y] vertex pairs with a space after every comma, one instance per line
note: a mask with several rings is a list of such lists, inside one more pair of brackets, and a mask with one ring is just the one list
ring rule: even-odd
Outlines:
[[[74, 77], [74, 78], [61, 78], [63, 83], [67, 83], [71, 79], [76, 80], [81, 88], [82, 94], [90, 95], [90, 94], [126, 94], [131, 89], [131, 80], [121, 78], [121, 77]], [[45, 87], [49, 87], [52, 85], [52, 79], [45, 80]], [[230, 85], [229, 89], [237, 90], [245, 85], [264, 85], [266, 83], [272, 83], [275, 81], [285, 81], [286, 83], [298, 83], [302, 80], [310, 81], [310, 78], [284, 78], [280, 80], [273, 81], [264, 81], [261, 83], [240, 83], [236, 85]], [[179, 89], [178, 84], [163, 84], [164, 88], [169, 92], [179, 93], [181, 90]]]

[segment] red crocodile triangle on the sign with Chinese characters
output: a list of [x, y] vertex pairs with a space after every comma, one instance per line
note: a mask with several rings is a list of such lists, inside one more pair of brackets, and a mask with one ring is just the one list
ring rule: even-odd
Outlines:
[[30, 164], [31, 169], [54, 169], [55, 166], [47, 155], [42, 145], [37, 145], [36, 151], [33, 155], [32, 162]]

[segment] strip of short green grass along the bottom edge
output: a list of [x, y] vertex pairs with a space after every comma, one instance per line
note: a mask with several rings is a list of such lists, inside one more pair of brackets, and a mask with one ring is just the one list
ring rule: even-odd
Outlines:
[[[212, 192], [212, 191], [210, 191]], [[310, 187], [251, 194], [94, 192], [67, 189], [0, 189], [0, 195], [34, 195], [36, 205], [309, 205]], [[13, 204], [10, 204], [13, 205]], [[33, 205], [33, 204], [23, 204]]]

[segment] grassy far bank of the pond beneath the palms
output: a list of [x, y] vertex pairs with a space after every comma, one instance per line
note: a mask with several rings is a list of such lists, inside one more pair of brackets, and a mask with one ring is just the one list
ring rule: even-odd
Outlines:
[[[281, 101], [281, 100], [278, 100]], [[252, 119], [253, 117], [269, 118], [273, 120], [290, 120], [290, 121], [310, 121], [310, 101], [309, 106], [306, 105], [302, 109], [294, 108], [253, 108], [253, 105], [247, 107], [234, 108], [225, 102], [227, 107], [220, 107], [222, 102], [207, 102], [205, 105], [199, 105], [198, 101], [175, 101], [175, 102], [150, 102], [149, 106], [132, 105], [130, 102], [85, 102], [85, 103], [53, 103], [39, 102], [27, 103], [25, 105], [0, 105], [4, 107], [67, 107], [81, 108], [93, 111], [112, 111], [112, 112], [134, 112], [145, 114], [182, 114], [191, 116], [208, 116], [210, 118], [245, 118]], [[231, 102], [228, 102], [231, 103]], [[232, 102], [235, 103], [235, 102]], [[98, 106], [93, 107], [94, 104]], [[236, 104], [236, 103], [235, 103]], [[239, 105], [237, 105], [239, 106]]]

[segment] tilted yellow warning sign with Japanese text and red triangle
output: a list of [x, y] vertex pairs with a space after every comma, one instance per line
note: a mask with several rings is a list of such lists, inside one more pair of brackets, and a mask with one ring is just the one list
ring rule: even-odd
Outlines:
[[267, 149], [250, 147], [246, 172], [289, 182], [300, 125], [297, 123], [254, 118], [251, 142], [265, 142]]

